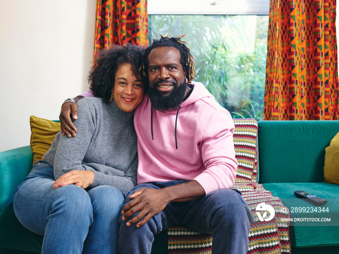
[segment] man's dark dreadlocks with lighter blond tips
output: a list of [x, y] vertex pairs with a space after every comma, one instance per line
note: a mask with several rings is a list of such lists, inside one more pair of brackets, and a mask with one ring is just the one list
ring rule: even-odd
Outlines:
[[192, 82], [192, 79], [194, 79], [194, 75], [197, 73], [195, 72], [195, 63], [193, 61], [194, 57], [191, 54], [191, 49], [186, 46], [188, 43], [185, 41], [182, 41], [181, 38], [183, 38], [185, 35], [180, 35], [178, 37], [169, 37], [167, 34], [166, 36], [161, 36], [160, 40], [153, 39], [153, 43], [151, 46], [149, 46], [142, 57], [143, 62], [143, 74], [148, 77], [148, 55], [152, 51], [152, 49], [156, 47], [175, 47], [180, 52], [180, 63], [183, 66], [184, 72], [186, 72], [186, 78], [188, 81], [188, 84]]

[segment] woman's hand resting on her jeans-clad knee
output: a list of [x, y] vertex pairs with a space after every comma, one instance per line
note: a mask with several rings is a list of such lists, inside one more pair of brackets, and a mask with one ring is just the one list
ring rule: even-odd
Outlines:
[[75, 184], [83, 189], [86, 189], [93, 183], [94, 172], [87, 170], [72, 170], [63, 174], [53, 183], [53, 188], [63, 187], [69, 184]]

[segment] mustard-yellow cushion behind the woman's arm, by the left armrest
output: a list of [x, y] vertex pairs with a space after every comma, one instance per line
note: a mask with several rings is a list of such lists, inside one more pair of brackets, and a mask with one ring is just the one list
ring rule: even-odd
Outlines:
[[33, 162], [37, 162], [50, 148], [55, 135], [60, 131], [60, 122], [31, 116], [30, 125]]

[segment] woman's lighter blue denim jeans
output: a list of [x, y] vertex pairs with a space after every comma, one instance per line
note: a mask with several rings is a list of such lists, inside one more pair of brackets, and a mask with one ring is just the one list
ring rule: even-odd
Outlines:
[[53, 167], [39, 161], [14, 196], [19, 222], [44, 236], [42, 253], [116, 253], [123, 194], [112, 186], [53, 189], [54, 181]]

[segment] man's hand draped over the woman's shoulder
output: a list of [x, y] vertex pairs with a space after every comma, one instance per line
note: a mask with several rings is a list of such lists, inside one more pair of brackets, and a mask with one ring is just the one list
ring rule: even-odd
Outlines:
[[[82, 96], [77, 96], [74, 100], [77, 102], [79, 99], [83, 98]], [[62, 135], [67, 135], [68, 137], [76, 136], [77, 128], [74, 126], [71, 116], [73, 119], [77, 119], [77, 104], [72, 102], [66, 102], [61, 107], [61, 112], [59, 115], [61, 133]]]

